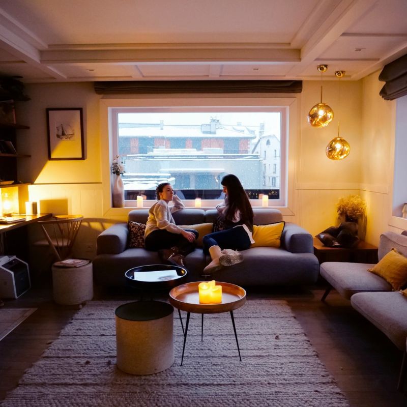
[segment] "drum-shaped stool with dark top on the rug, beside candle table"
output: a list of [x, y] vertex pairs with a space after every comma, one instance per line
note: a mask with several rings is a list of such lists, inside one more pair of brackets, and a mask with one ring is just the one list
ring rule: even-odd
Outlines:
[[131, 374], [152, 374], [174, 363], [173, 307], [161, 301], [137, 301], [115, 311], [117, 365]]

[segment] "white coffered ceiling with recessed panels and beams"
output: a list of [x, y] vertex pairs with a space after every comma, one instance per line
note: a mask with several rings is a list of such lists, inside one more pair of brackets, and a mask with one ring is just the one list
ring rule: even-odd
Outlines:
[[23, 82], [358, 80], [407, 53], [406, 0], [2, 0]]

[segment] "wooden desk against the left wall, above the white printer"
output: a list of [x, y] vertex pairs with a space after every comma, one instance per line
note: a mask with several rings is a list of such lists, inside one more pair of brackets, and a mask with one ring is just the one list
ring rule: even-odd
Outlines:
[[24, 226], [31, 225], [39, 220], [50, 218], [52, 214], [21, 215], [26, 220], [16, 223], [0, 224], [0, 255], [15, 255], [28, 263], [28, 234]]

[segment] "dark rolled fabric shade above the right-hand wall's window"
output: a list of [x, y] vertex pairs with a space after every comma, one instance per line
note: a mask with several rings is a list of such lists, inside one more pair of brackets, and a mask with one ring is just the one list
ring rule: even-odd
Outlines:
[[393, 100], [407, 95], [407, 54], [387, 64], [379, 75], [386, 82], [380, 91], [385, 100]]

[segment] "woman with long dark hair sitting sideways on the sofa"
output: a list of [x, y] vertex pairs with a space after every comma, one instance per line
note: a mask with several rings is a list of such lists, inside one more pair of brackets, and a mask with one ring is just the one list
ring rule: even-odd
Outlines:
[[203, 252], [212, 258], [203, 270], [204, 274], [211, 274], [222, 266], [241, 263], [243, 256], [237, 250], [246, 250], [254, 243], [253, 210], [242, 184], [233, 174], [224, 176], [221, 184], [225, 199], [216, 209], [223, 220], [224, 229], [202, 239]]

